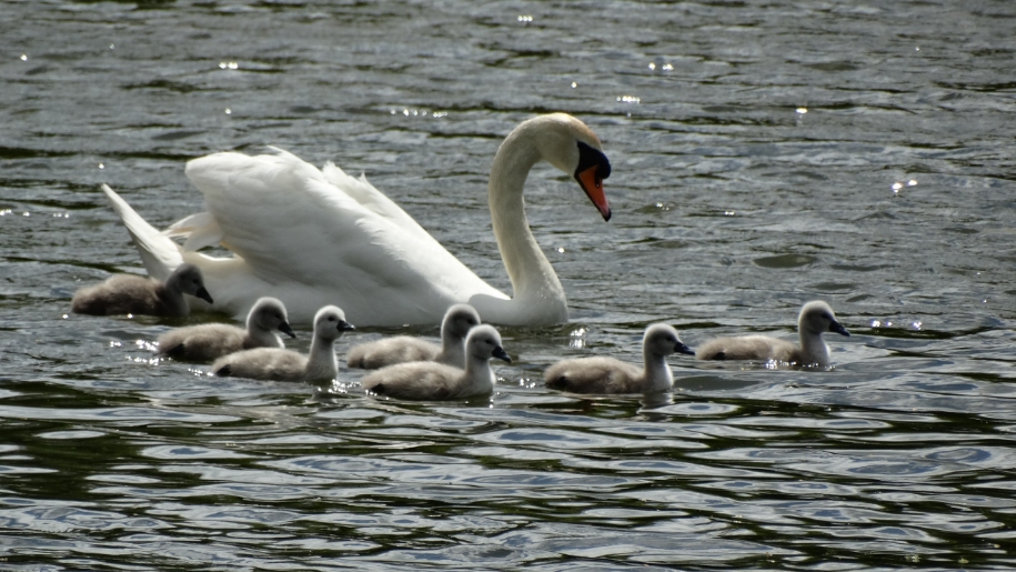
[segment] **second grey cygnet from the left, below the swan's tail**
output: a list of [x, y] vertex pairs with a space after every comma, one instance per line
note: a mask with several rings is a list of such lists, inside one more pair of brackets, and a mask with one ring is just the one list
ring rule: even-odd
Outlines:
[[240, 350], [284, 348], [275, 330], [295, 338], [278, 298], [264, 297], [247, 314], [247, 329], [207, 323], [170, 330], [159, 337], [159, 354], [180, 361], [207, 362]]

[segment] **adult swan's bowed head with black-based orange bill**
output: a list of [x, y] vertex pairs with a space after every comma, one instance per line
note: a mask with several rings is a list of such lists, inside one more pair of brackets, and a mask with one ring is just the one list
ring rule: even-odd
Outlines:
[[585, 123], [567, 113], [551, 113], [526, 123], [536, 128], [534, 139], [540, 157], [572, 175], [585, 195], [611, 220], [611, 205], [603, 192], [603, 180], [611, 175], [611, 162], [603, 154], [603, 143]]

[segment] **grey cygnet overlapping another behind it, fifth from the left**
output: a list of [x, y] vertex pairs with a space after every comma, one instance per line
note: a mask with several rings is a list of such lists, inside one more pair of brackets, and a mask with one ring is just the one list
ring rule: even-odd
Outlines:
[[376, 395], [415, 401], [446, 401], [482, 395], [494, 390], [491, 358], [509, 363], [501, 334], [491, 325], [473, 328], [465, 339], [465, 370], [429, 361], [396, 363], [361, 380]]

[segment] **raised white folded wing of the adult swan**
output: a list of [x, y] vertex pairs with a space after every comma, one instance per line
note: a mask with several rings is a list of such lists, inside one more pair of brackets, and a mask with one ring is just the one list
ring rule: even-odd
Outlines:
[[284, 151], [215, 153], [190, 161], [187, 175], [204, 193], [222, 245], [275, 284], [286, 308], [296, 304], [280, 292], [286, 283], [330, 299], [352, 323], [434, 323], [475, 293], [504, 298], [375, 189], [354, 190], [370, 199], [365, 207]]

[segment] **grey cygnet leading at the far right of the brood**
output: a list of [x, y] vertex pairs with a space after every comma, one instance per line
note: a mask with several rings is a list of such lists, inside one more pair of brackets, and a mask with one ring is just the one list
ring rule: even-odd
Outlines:
[[797, 335], [801, 345], [768, 335], [716, 338], [698, 347], [700, 360], [757, 360], [778, 361], [796, 365], [829, 367], [829, 347], [822, 340], [824, 332], [851, 335], [839, 322], [829, 304], [816, 300], [804, 304], [797, 317]]

